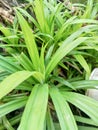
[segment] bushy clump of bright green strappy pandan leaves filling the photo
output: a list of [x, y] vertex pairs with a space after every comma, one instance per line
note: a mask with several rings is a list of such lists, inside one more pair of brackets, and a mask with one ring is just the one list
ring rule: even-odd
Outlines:
[[86, 61], [97, 53], [98, 22], [88, 8], [73, 14], [56, 0], [27, 10], [16, 8], [12, 27], [0, 27], [0, 129], [96, 130], [98, 101], [85, 91], [98, 84]]

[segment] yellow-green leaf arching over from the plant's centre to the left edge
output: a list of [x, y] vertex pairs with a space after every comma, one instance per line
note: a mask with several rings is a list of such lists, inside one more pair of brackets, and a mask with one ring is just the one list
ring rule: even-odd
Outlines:
[[0, 83], [0, 99], [31, 76], [43, 82], [43, 75], [39, 72], [19, 71], [5, 78]]

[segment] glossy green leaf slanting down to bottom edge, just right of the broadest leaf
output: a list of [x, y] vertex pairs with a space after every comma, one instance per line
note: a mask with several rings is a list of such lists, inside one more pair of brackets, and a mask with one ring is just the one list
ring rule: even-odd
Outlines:
[[50, 96], [58, 115], [61, 130], [78, 130], [69, 105], [66, 100], [64, 101], [64, 98], [58, 89], [50, 88]]

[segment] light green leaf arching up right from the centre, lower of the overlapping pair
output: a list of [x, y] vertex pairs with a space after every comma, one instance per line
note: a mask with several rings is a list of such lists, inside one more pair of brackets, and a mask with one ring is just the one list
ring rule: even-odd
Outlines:
[[49, 64], [47, 65], [46, 77], [49, 76], [49, 74], [52, 72], [52, 70], [64, 56], [66, 56], [70, 51], [72, 51], [75, 47], [84, 42], [86, 39], [86, 37], [80, 37], [74, 41], [71, 39], [65, 40], [63, 44], [59, 47], [59, 49], [56, 51], [56, 53], [53, 55]]

